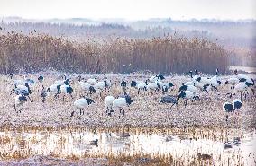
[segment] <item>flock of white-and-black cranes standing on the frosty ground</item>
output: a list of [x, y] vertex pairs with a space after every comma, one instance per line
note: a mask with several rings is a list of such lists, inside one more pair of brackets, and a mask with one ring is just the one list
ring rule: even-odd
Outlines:
[[[195, 70], [195, 72], [189, 71], [189, 74], [190, 79], [180, 84], [178, 87], [178, 95], [168, 94], [170, 91], [174, 90], [176, 86], [173, 83], [165, 82], [165, 77], [161, 74], [153, 75], [145, 81], [133, 80], [130, 85], [125, 80], [122, 80], [119, 85], [114, 84], [106, 77], [106, 74], [104, 74], [102, 81], [98, 81], [96, 78], [85, 80], [81, 76], [78, 76], [78, 82], [76, 82], [78, 86], [77, 91], [83, 93], [83, 95], [80, 99], [74, 101], [74, 106], [76, 109], [80, 110], [80, 115], [83, 115], [84, 109], [90, 104], [95, 103], [95, 100], [91, 97], [93, 94], [100, 96], [102, 92], [111, 92], [113, 86], [121, 86], [123, 93], [118, 97], [114, 97], [113, 95], [105, 97], [106, 114], [109, 116], [116, 110], [119, 110], [124, 116], [124, 108], [133, 104], [133, 99], [127, 91], [128, 87], [137, 89], [137, 95], [149, 91], [161, 93], [159, 103], [166, 103], [169, 105], [169, 109], [171, 109], [172, 106], [178, 105], [178, 100], [184, 100], [186, 107], [187, 100], [191, 100], [192, 102], [194, 100], [200, 100], [200, 97], [197, 95], [199, 92], [217, 92], [220, 86], [230, 85], [230, 92], [226, 95], [231, 98], [233, 95], [240, 92], [240, 99], [235, 99], [233, 102], [224, 102], [223, 109], [227, 113], [240, 109], [242, 107], [242, 96], [246, 99], [250, 90], [254, 95], [254, 80], [248, 75], [237, 74], [237, 71], [234, 71], [234, 75], [229, 76], [229, 78], [225, 80], [221, 80], [219, 77], [218, 69], [216, 69], [215, 76], [212, 77], [200, 76], [197, 74], [197, 70]], [[54, 99], [58, 99], [59, 94], [63, 95], [63, 101], [66, 95], [69, 95], [73, 99], [72, 94], [74, 92], [73, 84], [75, 83], [75, 79], [67, 78], [66, 75], [64, 75], [62, 79], [56, 80], [48, 88], [43, 85], [45, 78], [42, 75], [38, 77], [37, 81], [32, 79], [15, 80], [14, 74], [10, 74], [9, 76], [12, 83], [14, 83], [12, 93], [15, 94], [13, 107], [16, 112], [21, 112], [23, 104], [26, 101], [32, 101], [30, 96], [33, 92], [33, 86], [36, 83], [41, 85], [41, 99], [43, 103], [47, 98], [50, 98], [50, 96]], [[75, 110], [71, 112], [71, 117], [74, 116], [74, 114]], [[226, 118], [228, 118], [228, 116], [226, 116]]]

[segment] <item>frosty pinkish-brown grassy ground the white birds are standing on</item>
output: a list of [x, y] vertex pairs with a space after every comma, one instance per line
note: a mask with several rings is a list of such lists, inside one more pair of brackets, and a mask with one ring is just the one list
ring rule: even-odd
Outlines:
[[[45, 76], [44, 86], [50, 87], [59, 75], [56, 74], [43, 74]], [[38, 74], [31, 74], [33, 79], [36, 79]], [[92, 77], [92, 75], [82, 75], [85, 79]], [[102, 75], [94, 75], [99, 80]], [[41, 127], [225, 127], [225, 113], [222, 105], [225, 101], [239, 98], [233, 96], [233, 99], [228, 99], [225, 94], [230, 91], [229, 86], [222, 86], [220, 92], [214, 91], [206, 94], [201, 92], [199, 94], [201, 100], [191, 103], [184, 107], [183, 101], [179, 100], [178, 107], [174, 106], [172, 110], [168, 110], [167, 105], [160, 105], [159, 99], [162, 95], [161, 92], [145, 92], [140, 95], [137, 90], [129, 88], [127, 92], [132, 96], [134, 104], [130, 109], [125, 109], [125, 116], [121, 115], [119, 111], [114, 112], [113, 117], [105, 114], [105, 96], [114, 95], [117, 97], [122, 93], [119, 86], [121, 78], [124, 78], [131, 83], [131, 80], [145, 80], [150, 77], [146, 74], [107, 74], [108, 78], [112, 80], [113, 87], [110, 92], [103, 92], [102, 97], [91, 96], [96, 101], [95, 104], [85, 109], [85, 115], [80, 116], [78, 110], [75, 117], [71, 118], [70, 113], [75, 109], [73, 106], [74, 100], [80, 98], [81, 94], [86, 92], [78, 91], [78, 75], [72, 75], [74, 84], [74, 99], [69, 96], [65, 102], [61, 100], [53, 100], [53, 96], [46, 99], [46, 103], [41, 102], [41, 85], [38, 84], [34, 87], [32, 92], [32, 102], [27, 102], [21, 114], [17, 114], [12, 107], [14, 103], [14, 96], [9, 95], [11, 91], [12, 81], [6, 81], [6, 76], [2, 77], [0, 85], [5, 87], [0, 92], [0, 101], [3, 103], [0, 111], [0, 124], [1, 126], [41, 126]], [[15, 76], [14, 79], [21, 77]], [[226, 76], [221, 76], [221, 79], [226, 79]], [[188, 76], [168, 76], [166, 82], [174, 83], [176, 88], [174, 91], [169, 92], [170, 95], [177, 95], [178, 86], [181, 82], [189, 80]], [[116, 83], [116, 85], [115, 85]], [[7, 94], [7, 95], [6, 95]], [[241, 115], [233, 114], [229, 118], [229, 127], [237, 127], [237, 120], [242, 127], [255, 127], [255, 97], [249, 95], [248, 100], [243, 101]]]

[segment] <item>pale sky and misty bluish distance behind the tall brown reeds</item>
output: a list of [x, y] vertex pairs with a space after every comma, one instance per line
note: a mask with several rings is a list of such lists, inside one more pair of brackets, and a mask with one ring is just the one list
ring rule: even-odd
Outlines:
[[231, 66], [256, 66], [253, 0], [0, 0], [0, 35], [45, 34], [78, 43], [207, 39]]

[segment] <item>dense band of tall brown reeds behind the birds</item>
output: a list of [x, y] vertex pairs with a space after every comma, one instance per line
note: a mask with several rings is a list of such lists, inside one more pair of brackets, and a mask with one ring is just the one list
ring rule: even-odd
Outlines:
[[0, 36], [0, 73], [62, 72], [128, 74], [150, 70], [156, 73], [187, 73], [198, 69], [213, 74], [228, 70], [228, 53], [207, 39], [164, 36], [153, 39], [112, 39], [84, 43], [46, 34], [24, 35], [12, 31]]

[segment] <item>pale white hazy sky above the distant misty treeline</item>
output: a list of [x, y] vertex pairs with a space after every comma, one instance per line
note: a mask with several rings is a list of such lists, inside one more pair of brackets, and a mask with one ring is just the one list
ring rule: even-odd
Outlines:
[[0, 17], [256, 19], [256, 0], [0, 0]]

